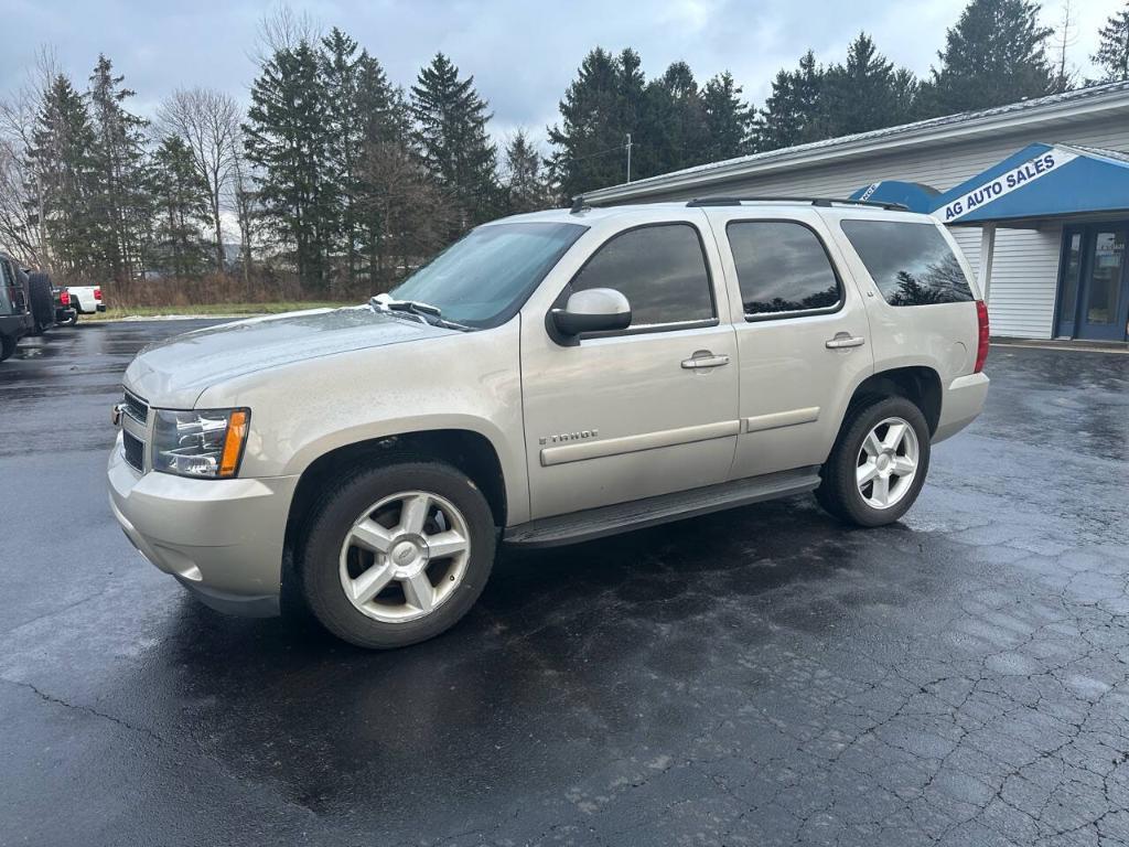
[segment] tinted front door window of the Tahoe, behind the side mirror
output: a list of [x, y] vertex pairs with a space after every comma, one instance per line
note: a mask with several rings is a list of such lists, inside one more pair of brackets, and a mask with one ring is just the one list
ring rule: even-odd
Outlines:
[[631, 326], [714, 317], [709, 272], [689, 224], [631, 229], [604, 244], [572, 280], [572, 290], [614, 288], [631, 304]]

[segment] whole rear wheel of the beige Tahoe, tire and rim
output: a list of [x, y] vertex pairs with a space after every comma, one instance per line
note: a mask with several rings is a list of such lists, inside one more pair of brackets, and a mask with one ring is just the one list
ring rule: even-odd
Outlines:
[[921, 410], [905, 398], [884, 398], [850, 412], [815, 496], [841, 521], [883, 526], [909, 510], [928, 470], [929, 427]]

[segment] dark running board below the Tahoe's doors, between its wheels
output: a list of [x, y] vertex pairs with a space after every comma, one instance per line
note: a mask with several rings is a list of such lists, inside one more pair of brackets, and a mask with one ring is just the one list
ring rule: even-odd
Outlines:
[[793, 471], [767, 473], [763, 477], [723, 482], [691, 491], [648, 497], [644, 500], [574, 512], [569, 515], [542, 517], [510, 526], [502, 535], [507, 544], [522, 547], [555, 547], [578, 541], [641, 530], [671, 521], [707, 515], [710, 512], [747, 506], [751, 503], [811, 491], [820, 484], [820, 465]]

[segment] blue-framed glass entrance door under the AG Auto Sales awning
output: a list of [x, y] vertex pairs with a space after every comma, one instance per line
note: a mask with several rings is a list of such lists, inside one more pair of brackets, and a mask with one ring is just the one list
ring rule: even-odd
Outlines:
[[1124, 341], [1129, 323], [1129, 226], [1102, 225], [1065, 235], [1058, 334]]

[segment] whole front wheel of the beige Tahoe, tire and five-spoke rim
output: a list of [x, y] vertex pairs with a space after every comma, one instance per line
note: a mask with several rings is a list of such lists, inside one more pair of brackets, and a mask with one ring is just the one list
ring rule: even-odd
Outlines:
[[402, 647], [454, 626], [493, 565], [485, 498], [446, 464], [358, 471], [315, 505], [298, 569], [314, 615], [361, 647]]

